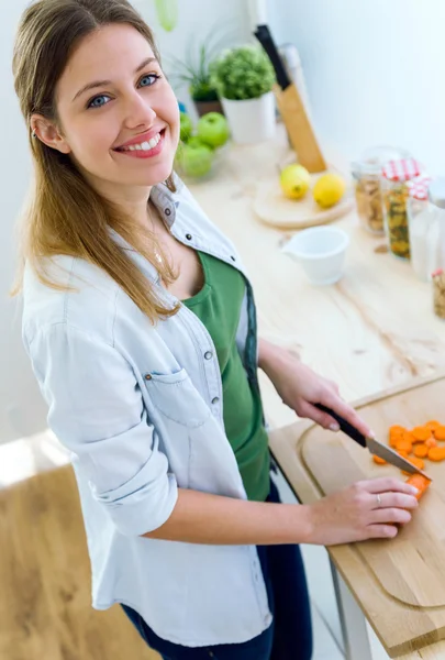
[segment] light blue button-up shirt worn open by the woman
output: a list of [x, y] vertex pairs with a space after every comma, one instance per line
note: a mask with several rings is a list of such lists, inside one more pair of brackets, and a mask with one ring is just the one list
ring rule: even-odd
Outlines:
[[[178, 241], [246, 277], [231, 242], [178, 182], [152, 199]], [[177, 299], [121, 237], [151, 286]], [[58, 266], [62, 266], [59, 268]], [[48, 425], [71, 452], [92, 570], [92, 605], [123, 603], [162, 638], [189, 647], [246, 641], [271, 623], [254, 546], [204, 546], [145, 538], [170, 516], [178, 486], [245, 498], [225, 436], [216, 351], [181, 305], [155, 327], [120, 286], [84, 260], [55, 260], [49, 288], [26, 268], [23, 338]], [[257, 386], [255, 305], [246, 296], [236, 337]]]

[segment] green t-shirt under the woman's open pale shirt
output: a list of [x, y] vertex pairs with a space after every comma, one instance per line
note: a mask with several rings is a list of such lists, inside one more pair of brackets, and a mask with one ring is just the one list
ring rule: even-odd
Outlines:
[[216, 348], [225, 433], [248, 499], [264, 502], [269, 493], [268, 437], [259, 394], [249, 385], [235, 341], [246, 285], [236, 268], [203, 252], [198, 255], [204, 286], [182, 302], [202, 321]]

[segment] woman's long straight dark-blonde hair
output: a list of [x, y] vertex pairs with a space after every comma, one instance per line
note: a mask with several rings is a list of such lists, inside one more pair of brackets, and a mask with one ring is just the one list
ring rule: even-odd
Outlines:
[[[34, 113], [57, 123], [56, 85], [74, 48], [85, 36], [110, 23], [135, 28], [159, 61], [152, 31], [126, 0], [37, 0], [24, 11], [15, 38], [13, 75], [29, 127]], [[46, 146], [29, 130], [34, 183], [23, 216], [19, 277], [13, 294], [21, 290], [25, 262], [41, 282], [52, 288], [64, 288], [48, 275], [45, 262], [46, 257], [66, 254], [105, 271], [153, 323], [175, 314], [178, 308], [163, 305], [127, 251], [112, 239], [109, 228], [156, 264], [165, 283], [171, 283], [176, 275], [168, 260], [163, 258], [160, 266], [155, 261], [154, 249], [162, 251], [153, 233], [137, 227], [99, 195], [68, 155]], [[166, 184], [175, 191], [173, 175]]]

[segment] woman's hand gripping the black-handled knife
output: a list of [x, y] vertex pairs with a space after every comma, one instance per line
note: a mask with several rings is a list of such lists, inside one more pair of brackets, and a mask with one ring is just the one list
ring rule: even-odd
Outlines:
[[299, 417], [312, 419], [325, 429], [338, 430], [338, 424], [314, 404], [323, 404], [344, 417], [364, 436], [374, 436], [368, 425], [346, 404], [338, 387], [315, 374], [298, 358], [265, 340], [259, 340], [259, 366], [267, 373], [282, 402]]

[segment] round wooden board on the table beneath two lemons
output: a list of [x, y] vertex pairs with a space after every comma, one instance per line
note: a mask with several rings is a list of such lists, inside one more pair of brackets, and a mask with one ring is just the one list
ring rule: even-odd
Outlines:
[[[320, 176], [311, 176], [312, 186]], [[288, 199], [281, 191], [278, 176], [274, 182], [259, 185], [254, 198], [254, 211], [258, 218], [278, 229], [304, 229], [325, 224], [348, 213], [354, 205], [351, 185], [347, 185], [341, 201], [330, 209], [320, 208], [313, 200], [311, 190], [308, 190], [303, 199]]]

